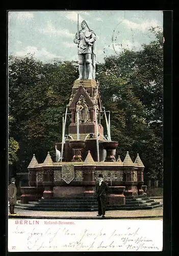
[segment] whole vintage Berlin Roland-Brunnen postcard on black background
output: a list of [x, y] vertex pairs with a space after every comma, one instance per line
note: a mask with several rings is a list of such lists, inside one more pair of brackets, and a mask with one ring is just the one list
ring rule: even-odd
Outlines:
[[163, 250], [164, 43], [162, 11], [8, 12], [9, 252]]

